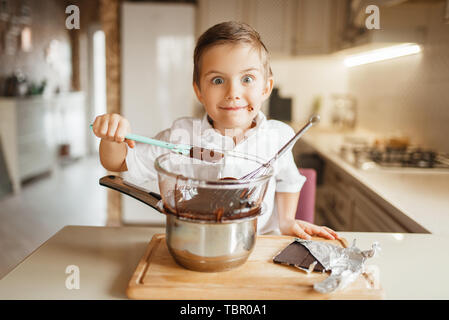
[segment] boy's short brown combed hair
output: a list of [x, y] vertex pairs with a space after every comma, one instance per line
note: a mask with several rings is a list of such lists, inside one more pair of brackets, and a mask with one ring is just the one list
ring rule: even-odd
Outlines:
[[200, 63], [206, 49], [225, 43], [247, 43], [259, 51], [264, 67], [265, 79], [273, 75], [270, 67], [269, 53], [259, 33], [250, 25], [243, 22], [227, 21], [216, 24], [207, 29], [196, 43], [193, 54], [193, 82], [200, 86]]

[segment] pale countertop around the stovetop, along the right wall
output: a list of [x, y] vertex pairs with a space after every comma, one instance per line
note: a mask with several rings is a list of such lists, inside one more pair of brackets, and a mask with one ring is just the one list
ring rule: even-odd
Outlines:
[[345, 136], [374, 137], [361, 130], [341, 133], [314, 128], [302, 141], [429, 232], [449, 235], [449, 170], [357, 169], [339, 156]]

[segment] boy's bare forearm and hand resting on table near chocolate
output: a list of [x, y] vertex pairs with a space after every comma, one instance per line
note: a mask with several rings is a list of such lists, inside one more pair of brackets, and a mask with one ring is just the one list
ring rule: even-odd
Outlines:
[[327, 239], [339, 239], [339, 235], [328, 227], [316, 226], [312, 223], [296, 220], [299, 192], [276, 192], [276, 205], [279, 214], [279, 229], [282, 234], [310, 240], [313, 235]]

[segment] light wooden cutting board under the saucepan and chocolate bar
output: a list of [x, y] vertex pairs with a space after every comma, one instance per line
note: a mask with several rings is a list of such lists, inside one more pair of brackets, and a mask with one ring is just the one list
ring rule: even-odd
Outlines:
[[[273, 262], [294, 240], [289, 236], [258, 236], [245, 264], [223, 272], [197, 272], [179, 266], [168, 252], [165, 234], [156, 234], [140, 260], [127, 288], [131, 299], [170, 300], [298, 300], [382, 299], [379, 274], [361, 275], [350, 286], [332, 294], [313, 289], [329, 273], [306, 272]], [[324, 240], [347, 247], [345, 239]], [[375, 266], [370, 266], [375, 267]], [[375, 269], [375, 268], [374, 268]], [[375, 270], [374, 270], [375, 271]]]

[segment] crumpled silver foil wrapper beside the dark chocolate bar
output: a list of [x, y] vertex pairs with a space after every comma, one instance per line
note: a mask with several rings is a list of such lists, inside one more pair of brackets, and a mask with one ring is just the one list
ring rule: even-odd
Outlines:
[[[299, 238], [295, 238], [295, 241], [306, 247], [323, 265], [325, 271], [331, 271], [329, 277], [313, 285], [313, 288], [321, 293], [331, 293], [346, 288], [365, 271], [366, 259], [374, 257], [380, 250], [379, 243], [374, 242], [370, 250], [361, 251], [355, 246], [355, 239], [349, 248], [342, 248], [323, 241]], [[312, 266], [309, 267], [308, 272], [310, 269], [313, 270]]]

